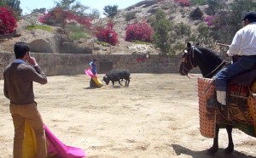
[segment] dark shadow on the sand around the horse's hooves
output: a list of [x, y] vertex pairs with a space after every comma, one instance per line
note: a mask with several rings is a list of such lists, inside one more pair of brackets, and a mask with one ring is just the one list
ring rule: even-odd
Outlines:
[[236, 150], [234, 150], [234, 152], [231, 154], [226, 154], [226, 153], [224, 153], [224, 149], [222, 149], [222, 148], [220, 148], [217, 151], [217, 153], [214, 155], [208, 155], [207, 150], [202, 150], [202, 151], [190, 150], [190, 149], [183, 147], [179, 144], [172, 144], [172, 148], [177, 155], [181, 155], [181, 154], [191, 155], [193, 158], [202, 158], [202, 157], [203, 158], [213, 158], [213, 157], [214, 158], [226, 158], [226, 157], [229, 157], [229, 158], [256, 158], [251, 155], [245, 155]]

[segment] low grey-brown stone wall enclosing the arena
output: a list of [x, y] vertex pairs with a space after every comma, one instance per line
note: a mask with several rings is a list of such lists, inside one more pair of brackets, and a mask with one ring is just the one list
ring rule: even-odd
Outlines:
[[[47, 76], [81, 75], [92, 59], [97, 59], [98, 73], [124, 68], [131, 73], [177, 73], [181, 56], [135, 55], [135, 54], [32, 54]], [[0, 79], [3, 69], [15, 59], [13, 53], [0, 54]], [[108, 67], [106, 67], [106, 64]]]

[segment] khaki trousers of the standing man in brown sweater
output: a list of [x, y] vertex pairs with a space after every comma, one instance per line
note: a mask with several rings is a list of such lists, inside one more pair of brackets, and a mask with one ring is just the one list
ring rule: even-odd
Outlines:
[[14, 138], [14, 158], [22, 158], [22, 143], [24, 139], [25, 120], [28, 121], [37, 138], [37, 157], [45, 158], [47, 156], [46, 139], [44, 132], [44, 123], [38, 111], [37, 104], [10, 104], [9, 110], [13, 118], [15, 127]]

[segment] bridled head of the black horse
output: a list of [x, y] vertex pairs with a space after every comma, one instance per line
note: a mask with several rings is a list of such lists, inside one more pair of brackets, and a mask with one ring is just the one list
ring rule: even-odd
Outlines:
[[190, 42], [187, 42], [187, 48], [184, 49], [182, 62], [179, 66], [179, 74], [182, 76], [187, 76], [189, 71], [191, 71], [194, 67], [197, 66], [195, 61], [195, 46], [192, 46]]

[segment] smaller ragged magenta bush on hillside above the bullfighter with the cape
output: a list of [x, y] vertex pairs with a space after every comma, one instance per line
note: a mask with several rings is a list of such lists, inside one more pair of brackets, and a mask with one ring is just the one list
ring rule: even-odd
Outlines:
[[97, 28], [96, 37], [101, 42], [108, 42], [109, 44], [115, 46], [118, 41], [118, 34], [111, 29], [107, 28]]

